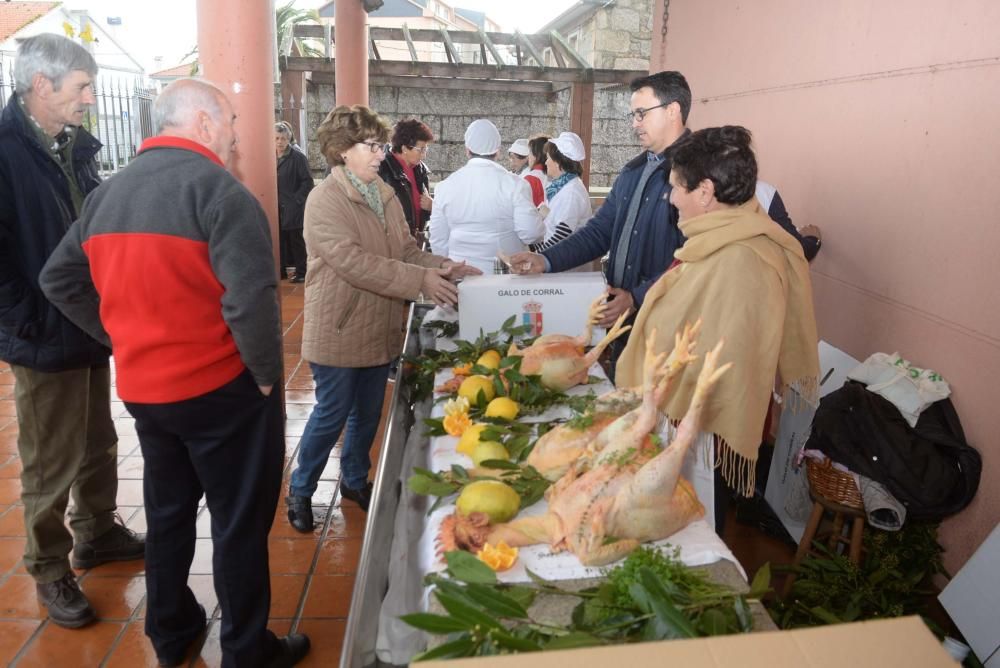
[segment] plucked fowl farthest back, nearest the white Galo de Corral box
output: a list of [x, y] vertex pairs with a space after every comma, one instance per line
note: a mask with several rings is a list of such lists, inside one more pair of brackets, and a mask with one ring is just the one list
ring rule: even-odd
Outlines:
[[527, 348], [518, 348], [512, 344], [507, 351], [508, 356], [521, 357], [521, 373], [537, 374], [542, 378], [542, 385], [553, 390], [567, 390], [574, 385], [587, 381], [587, 372], [601, 356], [604, 349], [619, 336], [631, 329], [623, 326], [627, 313], [623, 313], [614, 326], [608, 330], [607, 336], [584, 354], [584, 349], [590, 344], [594, 322], [600, 312], [600, 300], [590, 307], [590, 317], [587, 326], [580, 336], [564, 334], [549, 334], [535, 339]]

